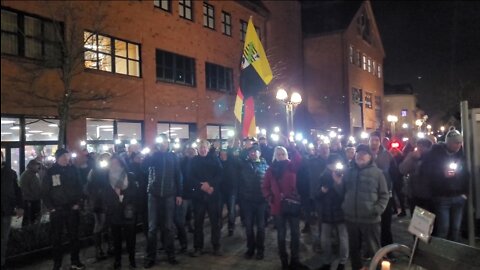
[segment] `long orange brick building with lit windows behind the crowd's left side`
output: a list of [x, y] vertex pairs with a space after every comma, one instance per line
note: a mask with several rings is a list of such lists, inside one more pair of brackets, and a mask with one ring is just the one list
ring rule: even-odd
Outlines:
[[[2, 1], [2, 151], [17, 170], [56, 148], [62, 69], [42, 68], [59, 55], [56, 44], [81, 49], [71, 76], [75, 119], [66, 127], [73, 151], [84, 143], [110, 149], [116, 140], [150, 145], [162, 133], [182, 141], [226, 138], [235, 128], [250, 16], [271, 65], [284, 71], [270, 87], [301, 87], [299, 1], [46, 2]], [[52, 34], [58, 27], [67, 42]], [[262, 112], [276, 108], [268, 93], [263, 100]]]

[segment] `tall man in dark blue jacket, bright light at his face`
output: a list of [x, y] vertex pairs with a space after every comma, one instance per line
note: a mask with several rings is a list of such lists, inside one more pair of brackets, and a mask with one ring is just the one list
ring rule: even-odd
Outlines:
[[178, 264], [174, 249], [175, 205], [182, 204], [182, 174], [175, 153], [169, 151], [168, 138], [158, 138], [159, 151], [144, 161], [148, 177], [148, 242], [145, 268], [155, 264], [157, 229], [162, 232], [168, 262]]

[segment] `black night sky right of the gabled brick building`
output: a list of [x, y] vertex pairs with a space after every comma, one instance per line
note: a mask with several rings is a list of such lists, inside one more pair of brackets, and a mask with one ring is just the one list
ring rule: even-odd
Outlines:
[[420, 107], [435, 118], [455, 114], [460, 99], [480, 107], [479, 1], [373, 1], [372, 7], [386, 83], [412, 84]]

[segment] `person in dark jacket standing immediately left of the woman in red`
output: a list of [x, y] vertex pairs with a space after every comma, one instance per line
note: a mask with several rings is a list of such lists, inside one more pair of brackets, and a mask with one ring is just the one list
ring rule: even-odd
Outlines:
[[[245, 215], [245, 232], [247, 235], [247, 252], [245, 257], [251, 259], [257, 251], [257, 260], [264, 258], [265, 251], [265, 213], [267, 201], [263, 197], [262, 185], [268, 169], [265, 159], [260, 158], [260, 148], [248, 149], [248, 159], [241, 163], [240, 200]], [[254, 224], [257, 227], [255, 237]]]

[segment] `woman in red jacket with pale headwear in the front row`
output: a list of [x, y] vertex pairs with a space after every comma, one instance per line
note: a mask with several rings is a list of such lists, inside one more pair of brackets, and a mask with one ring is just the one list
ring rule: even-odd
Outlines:
[[[292, 149], [293, 158], [288, 159], [288, 151], [285, 147], [275, 147], [273, 153], [273, 163], [268, 168], [262, 186], [262, 192], [266, 200], [270, 204], [271, 213], [275, 218], [277, 226], [278, 252], [282, 262], [282, 269], [308, 269], [307, 266], [300, 262], [299, 246], [300, 246], [300, 196], [297, 191], [297, 170], [300, 167], [300, 154]], [[298, 203], [298, 214], [287, 213], [285, 202]], [[293, 205], [295, 208], [295, 205]], [[291, 239], [291, 259], [288, 264], [288, 253], [286, 248], [286, 229], [287, 223], [290, 226]]]

